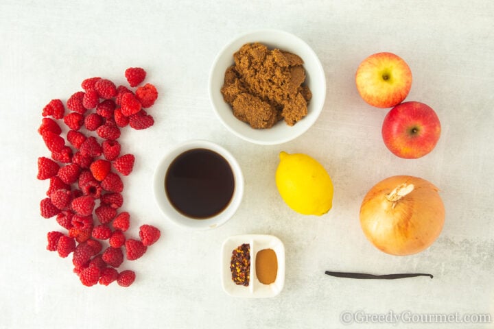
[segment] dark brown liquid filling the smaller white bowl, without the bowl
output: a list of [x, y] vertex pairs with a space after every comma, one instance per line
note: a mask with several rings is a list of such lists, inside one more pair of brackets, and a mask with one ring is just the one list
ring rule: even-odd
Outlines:
[[165, 191], [172, 206], [193, 219], [222, 212], [234, 189], [230, 164], [210, 149], [185, 151], [173, 160], [165, 175]]

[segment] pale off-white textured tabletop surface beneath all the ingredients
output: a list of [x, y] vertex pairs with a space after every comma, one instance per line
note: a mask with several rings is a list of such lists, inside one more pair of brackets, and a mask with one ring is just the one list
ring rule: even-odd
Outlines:
[[[486, 0], [1, 1], [0, 328], [337, 328], [344, 310], [494, 317], [493, 16], [494, 2]], [[259, 28], [299, 36], [325, 67], [320, 118], [283, 145], [242, 141], [209, 104], [217, 51]], [[429, 104], [440, 117], [440, 142], [424, 158], [390, 154], [380, 136], [386, 110], [357, 95], [355, 69], [378, 51], [408, 62], [414, 74], [408, 99]], [[132, 287], [86, 288], [70, 258], [45, 249], [46, 233], [58, 226], [39, 215], [47, 182], [36, 180], [36, 159], [48, 153], [36, 129], [50, 99], [67, 99], [95, 75], [123, 83], [129, 66], [144, 67], [160, 92], [150, 111], [152, 129], [124, 130], [120, 139], [137, 158], [125, 179], [129, 234], [152, 223], [163, 237], [143, 258], [124, 263], [137, 271]], [[163, 152], [192, 138], [230, 150], [246, 180], [235, 217], [207, 232], [173, 226], [152, 197], [152, 173]], [[328, 215], [303, 217], [283, 204], [274, 185], [281, 150], [305, 152], [327, 168], [335, 185]], [[358, 210], [368, 188], [402, 173], [439, 186], [447, 217], [430, 249], [394, 257], [366, 241]], [[243, 300], [222, 291], [220, 248], [234, 234], [283, 241], [285, 287], [277, 297]], [[325, 276], [327, 269], [421, 271], [434, 279], [345, 280]]]

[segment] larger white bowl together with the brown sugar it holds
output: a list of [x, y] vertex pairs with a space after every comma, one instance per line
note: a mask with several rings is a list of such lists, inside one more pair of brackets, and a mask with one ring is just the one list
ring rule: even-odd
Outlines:
[[224, 126], [261, 145], [291, 141], [316, 122], [326, 79], [316, 53], [293, 34], [263, 29], [238, 36], [218, 53], [209, 97]]

